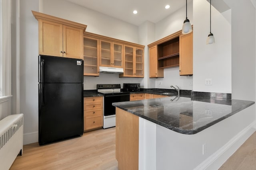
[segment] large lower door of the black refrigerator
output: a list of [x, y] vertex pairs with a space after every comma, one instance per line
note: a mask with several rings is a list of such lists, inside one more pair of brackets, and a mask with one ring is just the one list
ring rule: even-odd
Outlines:
[[39, 144], [84, 132], [83, 84], [38, 84]]

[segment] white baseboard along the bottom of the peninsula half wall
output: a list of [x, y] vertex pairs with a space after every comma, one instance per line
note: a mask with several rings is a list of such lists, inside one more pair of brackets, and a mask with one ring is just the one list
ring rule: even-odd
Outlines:
[[226, 145], [209, 156], [194, 170], [216, 170], [256, 131], [256, 121], [233, 137]]

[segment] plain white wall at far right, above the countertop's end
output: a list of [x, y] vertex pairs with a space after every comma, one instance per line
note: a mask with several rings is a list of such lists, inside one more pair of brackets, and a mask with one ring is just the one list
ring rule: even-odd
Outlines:
[[250, 0], [225, 1], [232, 8], [232, 98], [255, 101], [255, 8]]

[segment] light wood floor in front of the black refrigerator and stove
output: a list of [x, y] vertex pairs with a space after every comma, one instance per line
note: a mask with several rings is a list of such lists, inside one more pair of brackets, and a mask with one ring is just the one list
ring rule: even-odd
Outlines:
[[118, 170], [115, 132], [112, 127], [58, 143], [24, 145], [10, 170]]

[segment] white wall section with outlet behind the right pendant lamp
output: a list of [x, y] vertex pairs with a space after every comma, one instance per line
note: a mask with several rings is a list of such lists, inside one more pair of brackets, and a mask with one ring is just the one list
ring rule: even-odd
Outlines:
[[[225, 15], [231, 15], [231, 10]], [[194, 0], [193, 90], [231, 93], [231, 23], [212, 6], [212, 33], [215, 43], [206, 45], [210, 33], [210, 4]], [[212, 85], [205, 85], [212, 79]]]

